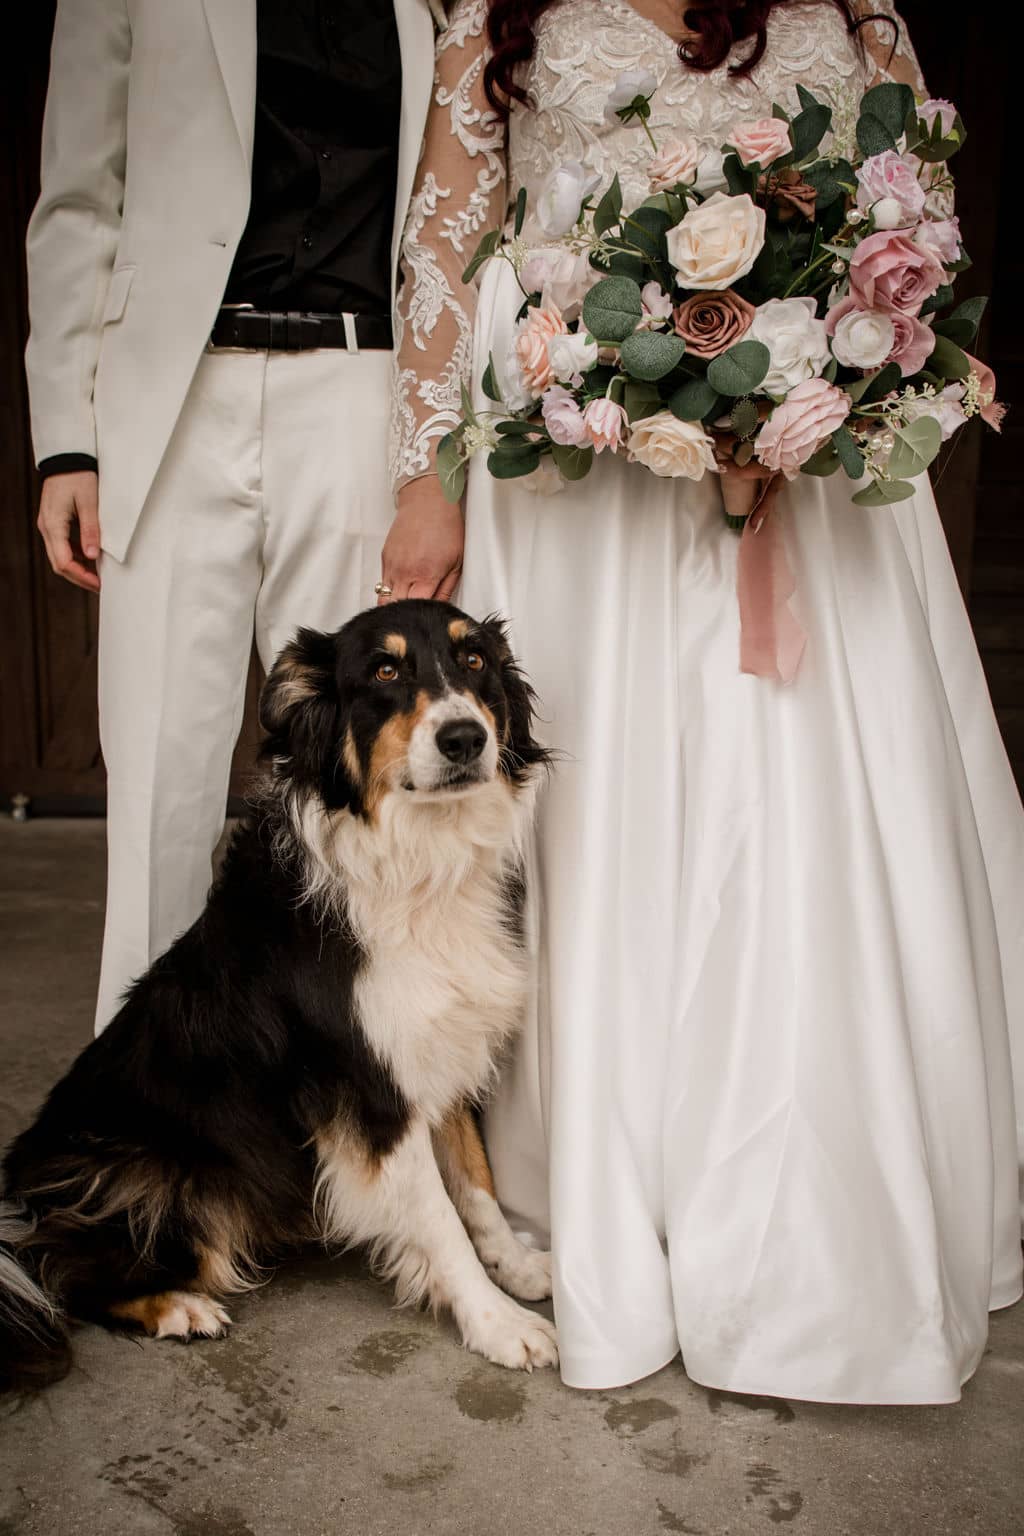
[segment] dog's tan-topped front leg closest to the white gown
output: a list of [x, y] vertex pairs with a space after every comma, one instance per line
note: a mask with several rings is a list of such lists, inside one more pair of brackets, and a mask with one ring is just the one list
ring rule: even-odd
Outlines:
[[468, 1104], [453, 1109], [433, 1140], [445, 1187], [487, 1272], [510, 1295], [543, 1301], [551, 1295], [551, 1255], [528, 1249], [505, 1221], [494, 1197], [484, 1138]]

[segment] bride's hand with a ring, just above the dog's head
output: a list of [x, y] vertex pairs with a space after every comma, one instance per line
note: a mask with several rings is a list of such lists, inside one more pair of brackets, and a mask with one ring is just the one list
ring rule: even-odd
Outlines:
[[462, 574], [464, 544], [462, 508], [444, 499], [436, 475], [402, 485], [381, 551], [381, 574], [391, 591], [381, 593], [378, 605], [401, 598], [448, 602]]

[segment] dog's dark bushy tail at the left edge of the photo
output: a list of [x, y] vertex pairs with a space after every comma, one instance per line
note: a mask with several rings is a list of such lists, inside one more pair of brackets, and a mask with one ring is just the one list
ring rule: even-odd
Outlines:
[[18, 1263], [35, 1223], [0, 1200], [0, 1392], [37, 1392], [71, 1369], [71, 1336], [60, 1307]]

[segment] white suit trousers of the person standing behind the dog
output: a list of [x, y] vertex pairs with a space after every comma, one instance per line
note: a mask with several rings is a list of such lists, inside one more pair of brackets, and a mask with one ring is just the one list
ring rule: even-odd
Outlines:
[[373, 602], [390, 353], [207, 352], [124, 561], [101, 561], [107, 903], [97, 1031], [200, 914], [253, 637]]

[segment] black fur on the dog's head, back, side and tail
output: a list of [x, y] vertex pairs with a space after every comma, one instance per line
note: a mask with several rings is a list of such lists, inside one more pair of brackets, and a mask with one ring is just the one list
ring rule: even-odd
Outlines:
[[[453, 639], [462, 625], [468, 637]], [[407, 654], [384, 685], [376, 668], [395, 662], [396, 634]], [[491, 713], [510, 785], [545, 759], [494, 621], [395, 604], [336, 634], [299, 631], [282, 653], [261, 700], [267, 776], [206, 911], [5, 1158], [2, 1389], [68, 1370], [68, 1318], [117, 1326], [118, 1303], [215, 1290], [210, 1252], [244, 1279], [315, 1238], [313, 1141], [339, 1115], [370, 1160], [402, 1137], [410, 1106], [353, 1009], [364, 955], [344, 917], [307, 899], [295, 811], [319, 800], [372, 819], [382, 730], [445, 688]]]

